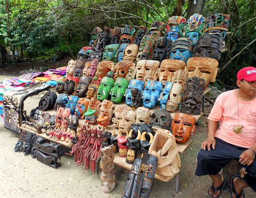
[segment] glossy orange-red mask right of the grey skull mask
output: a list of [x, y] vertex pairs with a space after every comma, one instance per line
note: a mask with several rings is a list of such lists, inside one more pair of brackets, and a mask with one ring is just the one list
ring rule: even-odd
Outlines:
[[176, 142], [186, 143], [195, 132], [195, 117], [176, 113], [174, 115], [174, 121], [172, 121], [173, 135]]

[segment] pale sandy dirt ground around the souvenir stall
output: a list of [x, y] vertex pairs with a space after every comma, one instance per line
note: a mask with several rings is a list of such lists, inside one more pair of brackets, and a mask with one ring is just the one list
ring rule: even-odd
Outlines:
[[[64, 66], [64, 65], [60, 65]], [[23, 68], [22, 68], [23, 69]], [[22, 70], [21, 69], [21, 70]], [[19, 68], [8, 70], [1, 69], [0, 80], [9, 76], [19, 76]], [[39, 101], [39, 96], [38, 96]], [[27, 99], [27, 104], [32, 109], [37, 106], [37, 100]], [[29, 109], [30, 109], [29, 108]], [[205, 109], [209, 114], [211, 106]], [[27, 111], [29, 112], [29, 111]], [[175, 177], [169, 182], [154, 181], [150, 197], [152, 198], [204, 198], [211, 186], [208, 176], [197, 177], [194, 175], [196, 168], [196, 154], [201, 147], [201, 142], [207, 137], [207, 116], [201, 117], [196, 126], [196, 133], [191, 138], [192, 144], [181, 154], [180, 190], [175, 193]], [[101, 190], [100, 174], [83, 170], [76, 166], [73, 156], [64, 155], [61, 158], [62, 166], [58, 169], [51, 168], [33, 159], [30, 155], [14, 152], [18, 141], [18, 133], [3, 127], [0, 123], [0, 195], [2, 197], [120, 197], [127, 180], [129, 170], [115, 166], [117, 186], [110, 193]], [[68, 149], [66, 148], [67, 152]], [[247, 198], [256, 196], [255, 192], [245, 189]], [[229, 198], [230, 193], [224, 191], [222, 198]]]

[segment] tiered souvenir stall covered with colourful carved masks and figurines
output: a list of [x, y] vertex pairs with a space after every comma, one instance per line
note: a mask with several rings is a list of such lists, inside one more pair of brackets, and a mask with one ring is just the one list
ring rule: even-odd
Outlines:
[[196, 134], [228, 21], [225, 14], [194, 14], [188, 21], [154, 21], [137, 32], [128, 25], [95, 27], [89, 46], [69, 61], [66, 76], [29, 115], [24, 100], [51, 85], [4, 93], [4, 126], [20, 133], [15, 151], [58, 168], [61, 146], [67, 146], [74, 164], [97, 173], [101, 167], [106, 193], [115, 189], [114, 165], [130, 169], [123, 198], [146, 198], [154, 178], [170, 181], [175, 175], [178, 191], [179, 153]]

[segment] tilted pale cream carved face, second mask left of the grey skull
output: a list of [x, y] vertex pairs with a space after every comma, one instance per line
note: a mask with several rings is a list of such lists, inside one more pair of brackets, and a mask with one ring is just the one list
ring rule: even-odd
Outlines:
[[119, 130], [121, 133], [129, 131], [132, 123], [135, 122], [136, 112], [132, 110], [126, 110], [121, 113], [121, 120], [119, 121]]

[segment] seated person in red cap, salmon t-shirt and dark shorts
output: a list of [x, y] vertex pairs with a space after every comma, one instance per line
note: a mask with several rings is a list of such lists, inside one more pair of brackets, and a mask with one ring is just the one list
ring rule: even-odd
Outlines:
[[226, 179], [219, 171], [231, 159], [238, 160], [247, 172], [243, 179], [231, 178], [231, 197], [244, 198], [243, 189], [248, 186], [256, 191], [256, 68], [240, 69], [237, 77], [239, 89], [216, 99], [208, 117], [208, 138], [197, 155], [195, 175], [212, 178], [208, 194], [213, 198], [221, 195]]

